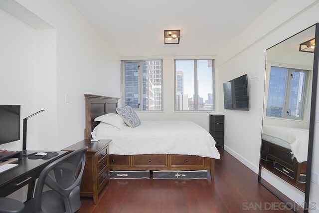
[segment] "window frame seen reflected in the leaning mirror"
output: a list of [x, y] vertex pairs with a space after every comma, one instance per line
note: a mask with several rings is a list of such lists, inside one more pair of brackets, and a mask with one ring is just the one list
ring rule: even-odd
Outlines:
[[[269, 72], [269, 82], [268, 82], [268, 90], [269, 90], [269, 85], [270, 85], [270, 75], [271, 75], [271, 68], [272, 67], [279, 67], [279, 68], [285, 68], [288, 70], [287, 72], [287, 84], [285, 87], [285, 98], [284, 98], [284, 104], [283, 104], [283, 110], [282, 110], [282, 116], [281, 117], [273, 117], [273, 116], [267, 116], [267, 107], [268, 107], [268, 97], [269, 93], [267, 94], [267, 104], [266, 104], [266, 112], [265, 112], [265, 117], [267, 118], [275, 118], [275, 119], [288, 119], [288, 120], [295, 120], [295, 121], [304, 121], [304, 115], [305, 115], [305, 107], [306, 107], [306, 102], [307, 102], [307, 91], [308, 91], [308, 78], [309, 78], [309, 72], [311, 70], [307, 69], [300, 69], [300, 68], [294, 68], [294, 67], [286, 67], [286, 66], [276, 66], [276, 65], [271, 65], [270, 66], [270, 72]], [[304, 82], [304, 88], [303, 88], [303, 93], [302, 93], [302, 110], [300, 117], [292, 117], [287, 115], [287, 111], [289, 110], [289, 99], [290, 99], [290, 89], [291, 89], [291, 83], [292, 83], [292, 78], [290, 77], [293, 73], [293, 71], [297, 72], [303, 72], [305, 73], [305, 82]]]

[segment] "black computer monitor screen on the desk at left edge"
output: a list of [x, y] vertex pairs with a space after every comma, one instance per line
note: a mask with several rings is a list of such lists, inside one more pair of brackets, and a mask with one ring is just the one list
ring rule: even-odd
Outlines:
[[20, 140], [20, 105], [0, 106], [0, 144]]

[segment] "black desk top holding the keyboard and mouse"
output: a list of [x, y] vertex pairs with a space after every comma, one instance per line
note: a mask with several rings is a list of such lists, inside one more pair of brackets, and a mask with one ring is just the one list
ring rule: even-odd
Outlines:
[[[32, 150], [33, 151], [33, 150]], [[35, 152], [45, 152], [45, 151], [35, 151]], [[59, 155], [54, 156], [50, 159], [28, 159], [26, 156], [23, 156], [22, 159], [19, 159], [18, 162], [14, 164], [18, 164], [17, 167], [14, 167], [10, 170], [4, 171], [0, 173], [0, 189], [7, 185], [8, 183], [11, 183], [12, 181], [15, 181], [18, 178], [21, 178], [22, 176], [32, 176], [31, 174], [33, 171], [45, 167], [49, 165], [54, 160], [64, 156], [67, 154], [67, 152], [61, 152], [57, 151]], [[1, 194], [1, 193], [0, 193]]]

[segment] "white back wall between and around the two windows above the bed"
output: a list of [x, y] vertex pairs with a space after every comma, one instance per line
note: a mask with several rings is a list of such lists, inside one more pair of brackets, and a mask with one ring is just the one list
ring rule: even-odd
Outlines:
[[[174, 111], [174, 60], [175, 59], [214, 59], [215, 56], [140, 56], [140, 57], [122, 57], [122, 60], [143, 60], [143, 59], [162, 59], [163, 60], [163, 111], [162, 112], [139, 112], [140, 119], [143, 121], [155, 120], [189, 120], [209, 131], [209, 114], [215, 112], [176, 112]], [[216, 76], [215, 76], [216, 77]], [[216, 88], [216, 87], [215, 87]], [[217, 94], [217, 92], [215, 93]]]

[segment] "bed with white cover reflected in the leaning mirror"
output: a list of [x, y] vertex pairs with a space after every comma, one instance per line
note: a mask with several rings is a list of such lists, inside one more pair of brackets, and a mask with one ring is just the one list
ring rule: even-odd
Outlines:
[[[294, 179], [304, 182], [307, 173], [309, 130], [264, 125], [261, 159]], [[277, 166], [277, 165], [279, 166]], [[303, 178], [301, 178], [303, 176]]]

